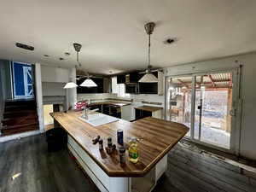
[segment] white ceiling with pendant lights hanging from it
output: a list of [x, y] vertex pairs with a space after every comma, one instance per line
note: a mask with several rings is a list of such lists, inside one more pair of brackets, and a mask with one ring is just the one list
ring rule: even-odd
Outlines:
[[[0, 58], [74, 67], [77, 42], [90, 73], [143, 69], [148, 21], [156, 23], [154, 67], [237, 55], [256, 50], [255, 9], [256, 1], [241, 0], [2, 0]], [[177, 42], [164, 44], [166, 38]], [[35, 50], [16, 48], [16, 42]]]

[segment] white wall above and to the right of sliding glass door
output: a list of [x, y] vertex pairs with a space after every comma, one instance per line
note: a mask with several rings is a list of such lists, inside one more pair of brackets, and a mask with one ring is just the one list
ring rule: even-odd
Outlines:
[[[239, 61], [239, 62], [236, 62]], [[256, 52], [247, 55], [236, 55], [212, 61], [189, 63], [177, 67], [166, 68], [167, 75], [184, 73], [201, 73], [210, 70], [242, 67], [242, 113], [241, 113], [241, 146], [240, 154], [256, 160]]]

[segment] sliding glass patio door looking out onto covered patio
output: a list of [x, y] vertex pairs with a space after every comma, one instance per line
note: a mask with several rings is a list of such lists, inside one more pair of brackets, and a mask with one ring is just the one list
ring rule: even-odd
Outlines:
[[187, 125], [187, 138], [234, 152], [237, 70], [167, 77], [166, 119]]

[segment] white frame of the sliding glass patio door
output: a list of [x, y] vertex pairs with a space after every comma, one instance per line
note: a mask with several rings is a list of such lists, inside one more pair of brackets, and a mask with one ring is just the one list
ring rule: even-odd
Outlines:
[[[231, 132], [230, 132], [230, 149], [221, 148], [217, 145], [212, 143], [205, 143], [200, 140], [194, 138], [194, 125], [195, 125], [195, 78], [196, 76], [205, 75], [208, 73], [232, 73], [232, 80], [233, 80], [233, 90], [232, 90], [232, 107], [236, 110], [236, 115], [232, 116], [231, 121]], [[240, 135], [241, 135], [241, 68], [235, 67], [230, 69], [219, 69], [219, 70], [209, 70], [200, 73], [181, 73], [178, 75], [167, 75], [166, 76], [166, 90], [168, 90], [167, 80], [170, 78], [178, 78], [184, 76], [191, 76], [192, 77], [192, 97], [191, 97], [191, 131], [189, 137], [184, 137], [184, 139], [189, 140], [193, 143], [198, 143], [201, 145], [205, 145], [209, 148], [215, 148], [220, 151], [224, 151], [230, 154], [239, 154], [240, 151]], [[165, 106], [167, 110], [167, 94], [165, 94]], [[165, 111], [165, 118], [166, 118], [166, 111]]]

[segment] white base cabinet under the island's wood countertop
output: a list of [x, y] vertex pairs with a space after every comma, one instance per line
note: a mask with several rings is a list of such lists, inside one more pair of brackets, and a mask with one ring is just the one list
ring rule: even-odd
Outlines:
[[109, 177], [70, 136], [67, 148], [102, 192], [150, 192], [167, 169], [166, 154], [144, 177]]

